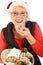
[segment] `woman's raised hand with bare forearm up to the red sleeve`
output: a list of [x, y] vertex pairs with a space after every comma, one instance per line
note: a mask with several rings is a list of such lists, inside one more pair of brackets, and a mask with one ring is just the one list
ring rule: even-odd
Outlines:
[[32, 36], [32, 34], [30, 33], [30, 30], [28, 28], [17, 27], [16, 31], [22, 37], [26, 38], [31, 45], [33, 45], [36, 42], [36, 39]]

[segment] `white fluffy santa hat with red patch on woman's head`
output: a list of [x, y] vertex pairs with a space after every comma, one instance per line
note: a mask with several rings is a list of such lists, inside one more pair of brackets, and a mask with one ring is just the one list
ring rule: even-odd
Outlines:
[[29, 11], [29, 7], [28, 7], [27, 2], [24, 2], [22, 0], [16, 0], [16, 1], [10, 2], [7, 6], [7, 10], [10, 12], [13, 10], [13, 8], [15, 6], [23, 6], [27, 12]]

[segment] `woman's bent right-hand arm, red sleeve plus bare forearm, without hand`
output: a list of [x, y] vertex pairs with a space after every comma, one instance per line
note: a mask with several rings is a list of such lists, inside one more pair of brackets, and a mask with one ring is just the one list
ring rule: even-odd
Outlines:
[[39, 25], [36, 23], [34, 30], [34, 37], [30, 34], [30, 38], [27, 37], [27, 40], [30, 42], [33, 50], [36, 54], [43, 57], [43, 38], [42, 32]]

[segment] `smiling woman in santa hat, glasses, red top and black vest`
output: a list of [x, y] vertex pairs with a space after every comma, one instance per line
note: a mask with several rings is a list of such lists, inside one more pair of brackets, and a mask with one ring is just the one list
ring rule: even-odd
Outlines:
[[34, 56], [34, 65], [41, 65], [37, 54], [43, 56], [42, 33], [36, 22], [28, 20], [27, 6], [27, 3], [22, 1], [10, 2], [7, 6], [12, 22], [0, 33], [0, 53], [6, 48], [26, 47]]

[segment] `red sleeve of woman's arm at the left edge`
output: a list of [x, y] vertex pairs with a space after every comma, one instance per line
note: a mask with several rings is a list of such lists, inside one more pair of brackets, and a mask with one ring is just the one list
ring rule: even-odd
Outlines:
[[3, 63], [1, 60], [1, 52], [6, 49], [6, 41], [4, 39], [3, 32], [0, 32], [0, 63]]

